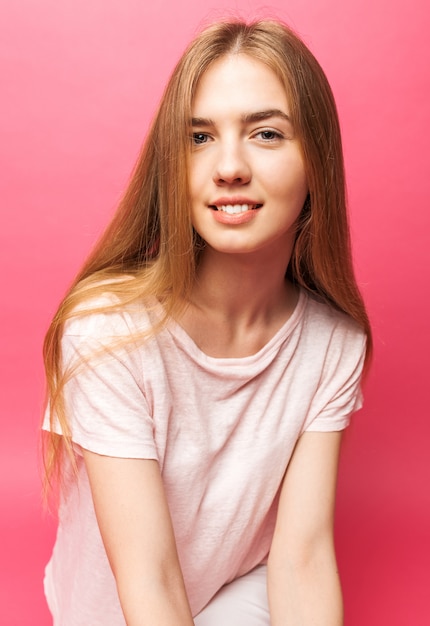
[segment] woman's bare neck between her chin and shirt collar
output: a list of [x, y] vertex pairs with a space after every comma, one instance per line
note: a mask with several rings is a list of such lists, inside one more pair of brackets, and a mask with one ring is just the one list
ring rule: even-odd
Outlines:
[[188, 306], [177, 321], [209, 356], [258, 352], [291, 316], [298, 290], [276, 257], [206, 250]]

